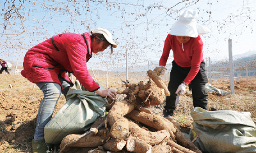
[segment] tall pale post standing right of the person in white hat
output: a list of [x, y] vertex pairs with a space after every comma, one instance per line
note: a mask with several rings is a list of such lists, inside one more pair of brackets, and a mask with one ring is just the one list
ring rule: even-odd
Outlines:
[[231, 94], [235, 93], [235, 84], [234, 84], [234, 69], [233, 69], [233, 57], [232, 57], [232, 40], [228, 40], [228, 54], [229, 54], [229, 81], [230, 81], [230, 90]]

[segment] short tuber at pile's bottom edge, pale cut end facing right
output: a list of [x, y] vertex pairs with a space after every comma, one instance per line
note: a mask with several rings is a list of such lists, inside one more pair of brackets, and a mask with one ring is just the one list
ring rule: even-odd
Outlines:
[[111, 150], [114, 152], [118, 152], [118, 151], [122, 150], [125, 145], [126, 145], [125, 140], [111, 138], [110, 140], [108, 140], [108, 142], [104, 143], [104, 145], [102, 145], [102, 147], [105, 150]]

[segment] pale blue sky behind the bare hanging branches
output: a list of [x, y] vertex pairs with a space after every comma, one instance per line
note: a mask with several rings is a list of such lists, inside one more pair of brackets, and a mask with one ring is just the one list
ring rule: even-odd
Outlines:
[[[11, 0], [0, 2], [1, 10], [8, 10], [10, 4]], [[20, 2], [15, 4], [18, 7]], [[31, 0], [24, 1], [20, 8], [25, 32], [18, 36], [0, 34], [0, 54], [7, 61], [22, 61], [29, 48], [56, 34], [84, 33], [102, 27], [113, 34], [118, 47], [114, 48], [112, 55], [109, 54], [109, 48], [101, 54], [93, 55], [88, 67], [105, 69], [109, 65], [110, 69], [122, 68], [125, 66], [127, 50], [129, 66], [136, 69], [148, 61], [159, 61], [164, 40], [179, 17], [180, 10], [189, 9], [198, 12], [198, 24], [211, 30], [210, 34], [201, 36], [204, 59], [227, 58], [229, 39], [232, 40], [233, 55], [256, 50], [253, 39], [256, 36], [255, 0], [59, 0], [45, 3]], [[10, 18], [10, 22], [4, 22], [1, 15], [0, 22], [0, 33], [19, 34], [23, 31], [19, 18]], [[4, 25], [7, 25], [5, 29]], [[167, 64], [172, 60], [170, 54]]]

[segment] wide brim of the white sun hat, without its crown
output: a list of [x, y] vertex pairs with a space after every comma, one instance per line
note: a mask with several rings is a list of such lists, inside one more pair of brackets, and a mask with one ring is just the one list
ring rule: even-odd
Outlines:
[[196, 24], [196, 23], [189, 23], [184, 24], [182, 22], [179, 22], [177, 20], [171, 27], [171, 31], [169, 34], [175, 35], [175, 36], [189, 36], [196, 38], [198, 35], [211, 33], [211, 31], [204, 27], [203, 25]]

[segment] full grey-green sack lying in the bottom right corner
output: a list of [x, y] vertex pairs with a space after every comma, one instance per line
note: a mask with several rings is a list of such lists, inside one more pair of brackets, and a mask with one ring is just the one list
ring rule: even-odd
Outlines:
[[190, 138], [192, 141], [198, 135], [194, 144], [202, 152], [256, 152], [256, 127], [250, 112], [196, 107], [191, 116]]

